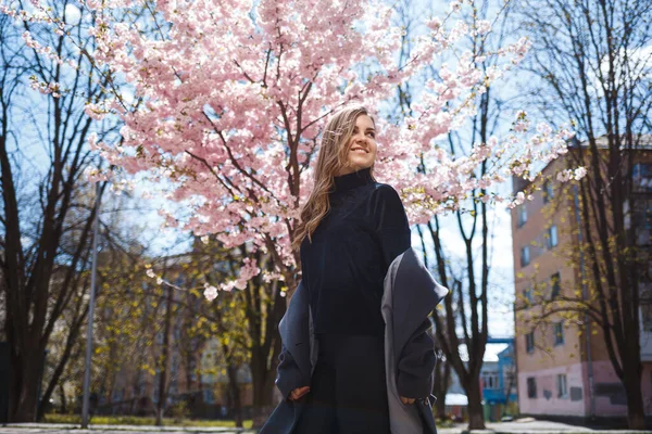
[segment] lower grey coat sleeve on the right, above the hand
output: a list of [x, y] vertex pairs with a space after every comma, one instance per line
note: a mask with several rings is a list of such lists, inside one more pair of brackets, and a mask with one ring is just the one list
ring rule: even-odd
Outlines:
[[428, 334], [430, 319], [426, 318], [403, 347], [398, 360], [397, 388], [400, 396], [425, 398], [432, 392], [435, 382], [435, 341]]

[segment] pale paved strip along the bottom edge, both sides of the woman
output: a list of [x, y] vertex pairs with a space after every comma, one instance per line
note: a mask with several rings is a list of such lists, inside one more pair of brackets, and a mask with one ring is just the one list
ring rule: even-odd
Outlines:
[[[641, 434], [652, 431], [631, 430], [591, 430], [561, 422], [538, 421], [531, 418], [514, 422], [487, 422], [487, 430], [466, 431], [466, 424], [455, 427], [438, 429], [438, 434]], [[255, 430], [234, 427], [199, 427], [199, 426], [136, 426], [136, 425], [91, 425], [90, 430], [82, 430], [76, 424], [55, 423], [17, 423], [0, 425], [0, 434], [181, 434], [181, 433], [222, 433], [255, 434]]]

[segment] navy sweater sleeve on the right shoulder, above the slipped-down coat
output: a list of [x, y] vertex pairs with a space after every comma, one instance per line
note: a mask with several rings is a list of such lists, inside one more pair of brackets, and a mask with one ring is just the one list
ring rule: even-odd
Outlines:
[[410, 224], [399, 193], [389, 184], [380, 184], [374, 191], [372, 212], [387, 268], [412, 245]]

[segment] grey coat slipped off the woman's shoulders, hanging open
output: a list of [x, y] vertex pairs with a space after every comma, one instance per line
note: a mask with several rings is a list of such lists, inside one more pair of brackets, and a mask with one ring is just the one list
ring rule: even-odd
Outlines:
[[[381, 312], [385, 319], [385, 366], [389, 421], [392, 434], [436, 434], [431, 403], [417, 399], [413, 405], [401, 403], [397, 390], [398, 366], [410, 353], [434, 350], [432, 340], [419, 329], [424, 319], [449, 290], [435, 281], [413, 247], [397, 256], [384, 281]], [[302, 400], [289, 400], [298, 385], [309, 385], [317, 361], [317, 344], [313, 333], [308, 291], [300, 282], [288, 310], [278, 326], [284, 352], [279, 359], [276, 386], [284, 400], [276, 407], [259, 434], [291, 434], [303, 410]], [[434, 373], [417, 379], [429, 384]]]

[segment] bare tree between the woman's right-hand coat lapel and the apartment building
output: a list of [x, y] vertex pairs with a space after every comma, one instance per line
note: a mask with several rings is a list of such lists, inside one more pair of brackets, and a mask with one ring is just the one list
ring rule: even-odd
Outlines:
[[[473, 36], [469, 38], [469, 50], [474, 53], [474, 59], [478, 59], [477, 64], [487, 71], [491, 66], [491, 61], [479, 60], [491, 50], [493, 44], [500, 46], [505, 40], [505, 22], [509, 12], [509, 2], [497, 4], [490, 0], [480, 0], [473, 2], [473, 15], [468, 17], [469, 23], [480, 20], [494, 17], [494, 34], [490, 37]], [[408, 11], [408, 9], [405, 9]], [[411, 23], [404, 20], [405, 24]], [[409, 34], [411, 28], [404, 25]], [[409, 50], [409, 37], [403, 44], [404, 50]], [[437, 67], [432, 65], [430, 74], [437, 76]], [[398, 106], [401, 112], [411, 114], [410, 90], [408, 87], [400, 87]], [[501, 110], [504, 108], [504, 100], [499, 97], [493, 88], [487, 89], [479, 95], [478, 112], [469, 120], [468, 128], [462, 133], [449, 135], [448, 148], [452, 155], [462, 155], [471, 148], [473, 143], [484, 142], [491, 135], [498, 131], [501, 125]], [[421, 168], [419, 168], [421, 169]], [[481, 177], [487, 173], [487, 163], [482, 163], [476, 174]], [[487, 195], [486, 190], [472, 191], [466, 204], [461, 206], [461, 210], [454, 213], [455, 229], [442, 225], [449, 222], [447, 217], [435, 216], [423, 228], [417, 228], [419, 233], [423, 230], [428, 233], [434, 244], [434, 269], [439, 282], [451, 289], [451, 295], [443, 301], [443, 309], [432, 311], [432, 319], [436, 324], [436, 341], [441, 350], [442, 372], [438, 372], [440, 384], [438, 385], [438, 403], [440, 405], [440, 414], [444, 412], [446, 390], [448, 388], [448, 376], [450, 369], [454, 369], [463, 388], [468, 397], [468, 429], [478, 430], [485, 427], [484, 411], [481, 405], [480, 388], [480, 369], [485, 355], [485, 347], [489, 332], [489, 288], [490, 288], [490, 267], [491, 267], [491, 227], [490, 210], [481, 197]], [[463, 209], [463, 208], [471, 209]], [[450, 245], [446, 245], [442, 240], [442, 231], [455, 230], [464, 245], [464, 256], [460, 259], [450, 253]], [[425, 241], [422, 234], [422, 242], [425, 248]], [[479, 246], [477, 247], [476, 244]], [[424, 254], [425, 264], [428, 265], [427, 255]], [[451, 267], [451, 264], [462, 261], [461, 267]], [[460, 354], [460, 346], [466, 345], [468, 352], [468, 361], [463, 360]]]

